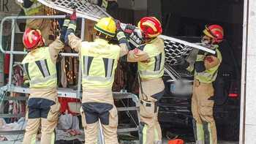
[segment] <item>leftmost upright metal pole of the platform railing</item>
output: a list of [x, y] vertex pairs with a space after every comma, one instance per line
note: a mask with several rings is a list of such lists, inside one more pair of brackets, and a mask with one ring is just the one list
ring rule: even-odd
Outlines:
[[[10, 51], [13, 51], [15, 40], [15, 19], [12, 19], [12, 39], [11, 39], [11, 48]], [[10, 53], [10, 67], [9, 67], [9, 81], [8, 87], [10, 88], [12, 84], [12, 63], [13, 63], [13, 53]]]

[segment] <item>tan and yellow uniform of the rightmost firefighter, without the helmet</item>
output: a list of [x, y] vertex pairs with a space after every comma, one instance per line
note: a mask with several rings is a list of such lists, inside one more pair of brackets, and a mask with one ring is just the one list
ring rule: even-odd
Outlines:
[[216, 48], [215, 56], [208, 53], [197, 54], [197, 61], [202, 61], [203, 72], [197, 72], [194, 65], [187, 69], [195, 69], [195, 80], [192, 94], [192, 114], [195, 140], [197, 144], [217, 144], [217, 130], [213, 116], [214, 88], [212, 82], [217, 77], [222, 54]]

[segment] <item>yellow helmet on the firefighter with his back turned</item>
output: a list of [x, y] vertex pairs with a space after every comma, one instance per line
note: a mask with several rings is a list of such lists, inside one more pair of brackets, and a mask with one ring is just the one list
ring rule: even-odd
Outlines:
[[94, 29], [110, 37], [116, 35], [116, 23], [113, 18], [102, 18], [95, 24]]

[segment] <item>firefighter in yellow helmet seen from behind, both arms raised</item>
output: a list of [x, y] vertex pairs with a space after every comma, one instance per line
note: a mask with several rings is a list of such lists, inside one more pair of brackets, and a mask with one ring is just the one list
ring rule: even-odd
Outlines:
[[[118, 59], [128, 53], [129, 44], [120, 22], [113, 18], [102, 18], [94, 26], [94, 42], [81, 42], [73, 33], [74, 23], [69, 23], [65, 42], [79, 52], [82, 66], [83, 98], [81, 116], [86, 144], [97, 142], [99, 120], [102, 124], [106, 144], [118, 144], [118, 115], [113, 103], [112, 86]], [[117, 35], [116, 35], [117, 32]], [[119, 45], [109, 44], [117, 37]]]

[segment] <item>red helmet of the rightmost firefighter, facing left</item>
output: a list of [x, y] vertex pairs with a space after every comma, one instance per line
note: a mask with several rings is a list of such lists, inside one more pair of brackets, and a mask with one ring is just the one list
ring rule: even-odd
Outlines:
[[206, 36], [211, 37], [214, 43], [222, 42], [224, 37], [224, 31], [222, 29], [222, 26], [219, 25], [206, 26], [206, 29], [203, 30], [203, 34], [206, 34]]

